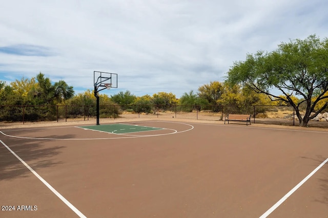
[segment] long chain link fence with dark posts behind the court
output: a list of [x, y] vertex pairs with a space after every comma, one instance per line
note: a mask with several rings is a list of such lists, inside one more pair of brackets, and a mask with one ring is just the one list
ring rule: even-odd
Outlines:
[[[99, 105], [109, 119], [190, 119], [223, 121], [228, 114], [249, 114], [252, 123], [299, 125], [291, 106], [273, 105]], [[96, 117], [96, 105], [0, 105], [0, 122], [85, 121]], [[328, 122], [310, 121], [328, 127]]]

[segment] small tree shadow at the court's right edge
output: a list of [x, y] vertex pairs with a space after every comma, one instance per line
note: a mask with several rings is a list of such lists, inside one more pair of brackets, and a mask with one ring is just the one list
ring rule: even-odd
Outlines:
[[[317, 155], [317, 158], [307, 158], [307, 157], [301, 157], [305, 159], [310, 159], [315, 161], [314, 167], [316, 168], [319, 166], [323, 161], [326, 160], [327, 157], [323, 157], [321, 155]], [[318, 178], [319, 181], [319, 189], [320, 189], [320, 197], [314, 197], [314, 201], [318, 203], [322, 203], [324, 205], [328, 205], [328, 163], [324, 164], [319, 171], [322, 170], [324, 173], [324, 177], [321, 176], [321, 178]]]

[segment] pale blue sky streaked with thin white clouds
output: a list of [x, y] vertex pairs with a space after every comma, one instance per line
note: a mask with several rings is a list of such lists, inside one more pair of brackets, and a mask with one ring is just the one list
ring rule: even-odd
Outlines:
[[11, 0], [0, 7], [0, 80], [64, 80], [93, 90], [116, 73], [133, 95], [197, 92], [235, 61], [281, 42], [328, 36], [325, 0]]

